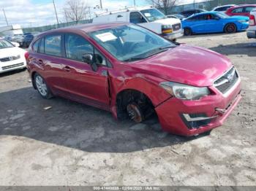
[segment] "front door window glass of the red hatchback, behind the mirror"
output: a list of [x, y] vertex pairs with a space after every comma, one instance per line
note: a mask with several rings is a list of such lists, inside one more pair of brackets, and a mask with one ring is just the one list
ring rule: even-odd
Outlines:
[[[81, 62], [84, 62], [83, 55], [85, 54], [101, 55], [86, 39], [77, 34], [65, 34], [65, 50], [67, 58]], [[102, 55], [101, 57], [103, 59], [100, 64], [106, 66], [104, 57]]]

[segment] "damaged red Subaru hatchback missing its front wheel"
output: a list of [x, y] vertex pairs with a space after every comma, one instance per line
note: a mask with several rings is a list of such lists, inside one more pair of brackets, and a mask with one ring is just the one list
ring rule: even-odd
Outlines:
[[228, 58], [133, 24], [39, 34], [28, 61], [42, 98], [59, 95], [135, 122], [157, 113], [163, 130], [183, 136], [222, 125], [241, 99], [241, 79]]

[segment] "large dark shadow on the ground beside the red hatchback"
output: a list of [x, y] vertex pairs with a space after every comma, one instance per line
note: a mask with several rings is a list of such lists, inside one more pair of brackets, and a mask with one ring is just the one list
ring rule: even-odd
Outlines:
[[160, 129], [157, 117], [141, 124], [64, 98], [45, 100], [32, 87], [0, 93], [0, 136], [23, 136], [86, 152], [135, 152], [183, 144]]

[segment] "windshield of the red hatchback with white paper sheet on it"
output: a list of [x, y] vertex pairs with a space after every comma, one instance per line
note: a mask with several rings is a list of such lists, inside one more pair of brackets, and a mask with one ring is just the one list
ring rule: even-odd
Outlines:
[[135, 25], [106, 28], [89, 33], [119, 61], [136, 61], [176, 47], [176, 44]]

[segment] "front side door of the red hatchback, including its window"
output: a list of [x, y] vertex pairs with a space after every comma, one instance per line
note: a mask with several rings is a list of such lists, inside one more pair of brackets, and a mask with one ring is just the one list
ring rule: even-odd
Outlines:
[[[108, 92], [107, 60], [83, 36], [65, 34], [66, 71], [64, 82], [67, 85], [69, 98], [92, 106], [107, 109], [110, 104]], [[97, 71], [93, 71], [89, 63], [84, 61], [84, 54], [100, 55], [102, 62]]]

